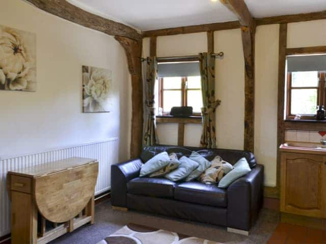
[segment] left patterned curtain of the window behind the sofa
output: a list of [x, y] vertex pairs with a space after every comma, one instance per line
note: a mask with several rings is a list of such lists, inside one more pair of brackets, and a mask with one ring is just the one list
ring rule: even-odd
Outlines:
[[155, 95], [154, 86], [157, 79], [157, 61], [156, 57], [147, 57], [147, 72], [145, 82], [145, 129], [144, 145], [151, 146], [158, 144], [156, 123], [155, 123]]

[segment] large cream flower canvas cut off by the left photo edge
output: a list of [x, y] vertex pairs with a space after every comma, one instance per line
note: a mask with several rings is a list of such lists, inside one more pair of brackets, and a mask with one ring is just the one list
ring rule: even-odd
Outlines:
[[36, 35], [0, 25], [0, 90], [36, 91]]

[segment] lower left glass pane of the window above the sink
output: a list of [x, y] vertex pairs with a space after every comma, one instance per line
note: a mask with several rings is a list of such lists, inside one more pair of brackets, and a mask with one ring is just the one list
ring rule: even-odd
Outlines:
[[291, 114], [315, 114], [317, 89], [292, 89]]

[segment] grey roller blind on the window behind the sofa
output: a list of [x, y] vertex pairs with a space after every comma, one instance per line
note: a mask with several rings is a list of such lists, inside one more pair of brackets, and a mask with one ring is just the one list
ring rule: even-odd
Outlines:
[[157, 65], [158, 77], [186, 77], [198, 76], [199, 62], [159, 63]]

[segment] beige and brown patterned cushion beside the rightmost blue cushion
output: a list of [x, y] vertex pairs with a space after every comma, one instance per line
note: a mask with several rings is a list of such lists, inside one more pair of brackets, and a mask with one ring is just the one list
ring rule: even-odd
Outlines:
[[209, 185], [216, 184], [233, 168], [231, 164], [224, 161], [220, 156], [216, 156], [211, 161], [211, 166], [199, 176], [198, 180]]

